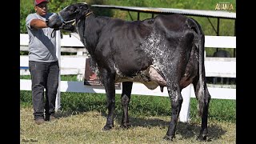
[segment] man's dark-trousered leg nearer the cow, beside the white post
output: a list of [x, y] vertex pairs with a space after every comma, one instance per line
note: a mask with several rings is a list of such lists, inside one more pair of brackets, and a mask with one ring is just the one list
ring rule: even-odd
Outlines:
[[49, 74], [47, 78], [46, 105], [45, 105], [47, 121], [49, 121], [50, 116], [54, 116], [54, 113], [55, 113], [55, 100], [56, 100], [56, 94], [58, 89], [58, 74], [59, 74], [58, 62], [50, 63]]

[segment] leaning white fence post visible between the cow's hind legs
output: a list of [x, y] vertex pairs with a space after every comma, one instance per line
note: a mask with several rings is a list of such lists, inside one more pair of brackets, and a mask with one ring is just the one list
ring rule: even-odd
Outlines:
[[180, 122], [188, 122], [190, 119], [190, 97], [191, 97], [191, 84], [182, 90], [182, 109], [179, 113]]

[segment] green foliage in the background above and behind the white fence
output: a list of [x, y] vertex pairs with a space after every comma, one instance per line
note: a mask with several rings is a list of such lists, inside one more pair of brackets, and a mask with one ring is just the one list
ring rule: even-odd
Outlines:
[[[29, 2], [28, 2], [29, 1]], [[26, 16], [30, 13], [34, 13], [34, 0], [21, 0], [20, 1], [20, 33], [26, 34]], [[87, 2], [90, 5], [98, 4], [98, 5], [116, 5], [116, 6], [143, 6], [143, 7], [162, 7], [162, 8], [175, 8], [175, 9], [191, 9], [191, 10], [215, 10], [215, 6], [217, 3], [221, 2], [219, 0], [211, 0], [209, 2], [205, 2], [203, 0], [50, 0], [49, 11], [50, 12], [58, 12], [62, 10], [64, 7], [76, 3], [76, 2]], [[226, 0], [225, 2], [230, 2], [235, 12], [236, 10], [236, 2], [234, 0]], [[108, 16], [113, 18], [121, 18], [125, 20], [137, 20], [137, 12], [130, 12], [130, 14], [126, 10], [113, 10], [113, 9], [99, 9], [91, 7], [94, 10], [94, 14]], [[131, 17], [130, 17], [131, 15]], [[155, 16], [156, 14], [154, 14]], [[151, 18], [152, 14], [140, 13], [140, 19]], [[217, 35], [217, 18], [203, 18], [203, 17], [195, 17], [190, 16], [199, 22], [202, 26], [202, 30], [205, 35]], [[214, 26], [211, 26], [211, 24]], [[215, 29], [215, 30], [214, 30]], [[224, 19], [220, 18], [220, 26], [219, 26], [219, 35], [225, 36], [234, 36], [234, 20], [233, 19]], [[65, 32], [63, 34], [66, 34]], [[233, 49], [226, 49], [230, 52], [231, 56], [234, 57]], [[212, 56], [216, 50], [212, 48], [206, 49], [207, 56]]]

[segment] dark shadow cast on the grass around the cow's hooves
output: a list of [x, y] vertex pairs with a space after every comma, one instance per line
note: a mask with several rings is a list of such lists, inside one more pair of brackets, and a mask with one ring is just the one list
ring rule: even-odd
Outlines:
[[[66, 117], [70, 117], [70, 115], [82, 114], [87, 111], [90, 111], [90, 110], [65, 111], [65, 112], [58, 111], [58, 113], [56, 114], [56, 117], [66, 118]], [[101, 114], [103, 117], [105, 118], [107, 117], [106, 112], [101, 111]], [[120, 126], [122, 121], [122, 113], [116, 113], [114, 115], [114, 118], [116, 122], [118, 122], [118, 126]], [[167, 131], [169, 123], [170, 122], [164, 121], [160, 118], [147, 119], [147, 118], [136, 118], [134, 116], [133, 117], [130, 116], [130, 125], [132, 127], [142, 126], [150, 129], [151, 127], [158, 126], [160, 127], [160, 129], [166, 129]], [[176, 134], [180, 134], [182, 138], [194, 138], [198, 136], [200, 129], [201, 129], [201, 123], [178, 122]], [[212, 141], [212, 139], [221, 138], [222, 135], [224, 135], [225, 133], [226, 133], [226, 130], [223, 130], [220, 126], [216, 124], [209, 125], [209, 122], [208, 122], [208, 134], [209, 134], [209, 137], [207, 138], [208, 142]]]

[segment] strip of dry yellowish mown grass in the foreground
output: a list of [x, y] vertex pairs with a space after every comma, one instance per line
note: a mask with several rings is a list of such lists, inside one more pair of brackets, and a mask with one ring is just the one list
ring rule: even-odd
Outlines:
[[[167, 144], [162, 138], [166, 134], [170, 122], [170, 116], [130, 115], [131, 127], [128, 130], [120, 128], [121, 119], [114, 118], [114, 128], [110, 131], [102, 131], [106, 124], [106, 114], [97, 110], [81, 113], [58, 113], [58, 119], [54, 122], [46, 122], [36, 125], [32, 117], [31, 108], [21, 109], [20, 141], [34, 141], [36, 143], [161, 143]], [[236, 143], [235, 123], [208, 121], [209, 144]], [[199, 122], [178, 122], [176, 138], [172, 143], [196, 143], [196, 137], [200, 130]], [[33, 143], [33, 142], [31, 142]]]

